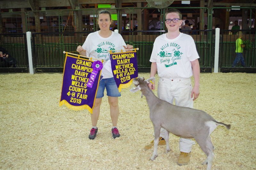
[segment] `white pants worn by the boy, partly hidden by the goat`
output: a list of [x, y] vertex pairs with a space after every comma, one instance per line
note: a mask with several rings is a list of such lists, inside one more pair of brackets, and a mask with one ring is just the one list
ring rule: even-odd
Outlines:
[[[193, 108], [193, 99], [191, 98], [191, 79], [190, 78], [178, 78], [168, 79], [159, 78], [157, 87], [157, 96], [171, 104], [175, 99], [175, 104], [182, 107]], [[182, 122], [181, 122], [182, 123]], [[160, 137], [164, 138], [164, 128], [161, 128]], [[180, 137], [180, 152], [191, 152], [194, 141], [187, 138]]]

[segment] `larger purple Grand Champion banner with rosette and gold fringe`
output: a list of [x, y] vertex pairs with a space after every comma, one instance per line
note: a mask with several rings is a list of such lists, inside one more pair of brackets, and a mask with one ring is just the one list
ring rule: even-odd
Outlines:
[[92, 113], [103, 64], [66, 53], [60, 106]]

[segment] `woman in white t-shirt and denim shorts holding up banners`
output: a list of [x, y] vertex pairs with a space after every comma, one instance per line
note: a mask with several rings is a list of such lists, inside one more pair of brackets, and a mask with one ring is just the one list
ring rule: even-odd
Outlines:
[[90, 33], [87, 36], [84, 45], [82, 47], [78, 46], [76, 49], [80, 55], [91, 55], [90, 57], [92, 58], [99, 58], [106, 61], [103, 63], [103, 68], [101, 71], [103, 78], [100, 80], [94, 108], [92, 111], [93, 114], [91, 114], [92, 129], [89, 135], [89, 139], [95, 139], [98, 133], [97, 122], [100, 115], [100, 104], [102, 97], [104, 96], [105, 87], [107, 90], [108, 103], [110, 106], [110, 116], [113, 124], [112, 138], [115, 139], [116, 137], [120, 137], [119, 131], [117, 129], [117, 121], [119, 115], [118, 97], [121, 96], [121, 93], [118, 91], [112, 74], [110, 54], [108, 50], [132, 49], [133, 46], [129, 44], [126, 45], [120, 34], [109, 30], [111, 23], [112, 20], [110, 13], [106, 10], [100, 11], [98, 14], [98, 24], [100, 31]]

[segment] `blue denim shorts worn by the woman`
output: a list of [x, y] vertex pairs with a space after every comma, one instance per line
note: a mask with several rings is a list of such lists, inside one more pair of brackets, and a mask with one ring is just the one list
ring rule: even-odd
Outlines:
[[118, 91], [116, 82], [114, 78], [104, 78], [100, 80], [96, 99], [102, 98], [104, 96], [104, 90], [107, 90], [107, 96], [110, 97], [120, 97], [121, 93]]

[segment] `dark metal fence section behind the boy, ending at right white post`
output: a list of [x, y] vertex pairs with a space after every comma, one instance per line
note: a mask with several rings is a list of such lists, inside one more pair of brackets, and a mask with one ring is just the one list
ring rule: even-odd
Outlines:
[[[180, 32], [184, 32], [180, 30]], [[212, 71], [212, 30], [192, 30], [192, 38], [195, 41], [197, 52], [200, 56], [199, 64], [201, 71]], [[153, 44], [157, 36], [167, 31], [122, 31], [126, 43], [132, 43], [137, 51], [138, 67], [150, 67], [149, 62]]]

